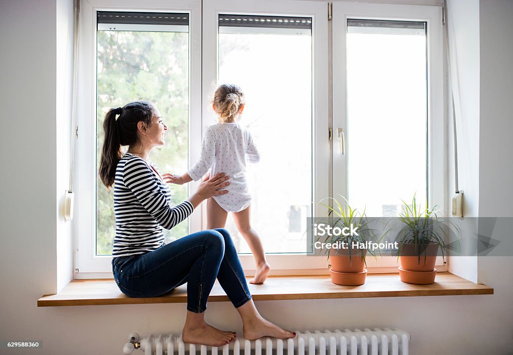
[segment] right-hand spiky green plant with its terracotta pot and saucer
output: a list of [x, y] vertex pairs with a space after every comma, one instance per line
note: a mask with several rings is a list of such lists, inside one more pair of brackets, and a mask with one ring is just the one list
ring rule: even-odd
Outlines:
[[[435, 282], [437, 270], [435, 262], [439, 251], [445, 259], [449, 249], [446, 241], [446, 227], [459, 228], [447, 218], [439, 218], [437, 206], [421, 210], [417, 207], [415, 195], [410, 204], [403, 201], [403, 210], [398, 221], [402, 226], [396, 240], [401, 266], [401, 281], [409, 284], [426, 285]], [[388, 233], [388, 232], [387, 232]], [[386, 233], [385, 233], [386, 234]]]

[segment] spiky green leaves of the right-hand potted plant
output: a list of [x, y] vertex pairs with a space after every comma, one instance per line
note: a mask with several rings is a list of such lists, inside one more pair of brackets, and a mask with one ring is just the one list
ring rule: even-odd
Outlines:
[[[403, 209], [397, 218], [402, 222], [403, 227], [396, 237], [396, 241], [399, 244], [397, 257], [399, 258], [399, 256], [401, 256], [402, 246], [405, 244], [415, 244], [421, 246], [417, 249], [419, 262], [422, 250], [424, 250], [425, 261], [427, 258], [426, 246], [429, 244], [437, 244], [442, 252], [442, 258], [445, 260], [445, 256], [450, 249], [446, 243], [449, 238], [445, 228], [453, 227], [458, 234], [461, 234], [460, 228], [448, 218], [438, 217], [437, 213], [439, 211], [437, 210], [437, 205], [428, 209], [426, 204], [424, 210], [421, 209], [421, 205], [417, 207], [415, 194], [413, 195], [411, 204], [406, 203], [404, 200], [401, 201], [403, 202]], [[389, 231], [390, 229], [385, 232], [385, 235]]]

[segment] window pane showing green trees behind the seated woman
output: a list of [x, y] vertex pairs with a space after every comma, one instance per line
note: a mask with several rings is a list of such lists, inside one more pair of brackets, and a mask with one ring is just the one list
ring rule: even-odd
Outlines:
[[[126, 25], [125, 25], [126, 26]], [[143, 25], [138, 25], [143, 26]], [[159, 25], [162, 26], [162, 25]], [[126, 27], [124, 27], [126, 28]], [[175, 31], [180, 28], [180, 31]], [[130, 101], [155, 103], [168, 126], [166, 145], [151, 159], [163, 171], [186, 171], [189, 125], [188, 26], [172, 32], [97, 31], [96, 171], [104, 139], [103, 119]], [[173, 202], [187, 198], [187, 185], [169, 185]], [[112, 189], [96, 179], [96, 254], [110, 255], [115, 234]], [[188, 234], [187, 220], [164, 231], [166, 242]]]

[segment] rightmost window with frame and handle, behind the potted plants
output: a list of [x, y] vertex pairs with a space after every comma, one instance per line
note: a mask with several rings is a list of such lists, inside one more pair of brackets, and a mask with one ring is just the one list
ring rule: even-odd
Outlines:
[[445, 212], [441, 19], [439, 7], [333, 4], [333, 195], [369, 217], [413, 194]]

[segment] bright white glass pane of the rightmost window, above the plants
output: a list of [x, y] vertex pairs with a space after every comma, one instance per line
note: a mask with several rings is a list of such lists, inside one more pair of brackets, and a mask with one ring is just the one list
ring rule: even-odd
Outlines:
[[371, 217], [427, 200], [425, 23], [348, 20], [348, 200]]

